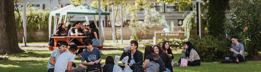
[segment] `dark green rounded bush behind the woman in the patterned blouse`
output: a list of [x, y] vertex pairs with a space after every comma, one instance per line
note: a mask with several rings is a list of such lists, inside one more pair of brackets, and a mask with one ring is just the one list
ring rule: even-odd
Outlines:
[[227, 47], [230, 47], [232, 42], [225, 36], [213, 37], [206, 35], [200, 38], [200, 36], [191, 36], [189, 41], [197, 49], [200, 60], [205, 62], [211, 62], [216, 58], [222, 58], [223, 54], [232, 55], [233, 52], [229, 51]]

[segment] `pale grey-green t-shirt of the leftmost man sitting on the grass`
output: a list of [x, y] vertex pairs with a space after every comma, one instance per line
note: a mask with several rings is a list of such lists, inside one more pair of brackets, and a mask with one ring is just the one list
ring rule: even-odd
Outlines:
[[[60, 49], [55, 49], [55, 50], [53, 50], [51, 56], [52, 56], [52, 57], [55, 57], [54, 62], [56, 62], [57, 59], [58, 59], [58, 57], [60, 56]], [[50, 64], [51, 56], [50, 56], [50, 58], [49, 58], [49, 62], [48, 62], [48, 66], [47, 66], [48, 69], [54, 68], [54, 66]]]

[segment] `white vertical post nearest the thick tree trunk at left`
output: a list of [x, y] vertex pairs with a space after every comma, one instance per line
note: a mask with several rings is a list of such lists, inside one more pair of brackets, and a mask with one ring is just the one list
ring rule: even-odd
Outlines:
[[26, 4], [27, 2], [23, 3], [23, 33], [24, 33], [24, 38], [23, 38], [23, 43], [26, 43]]

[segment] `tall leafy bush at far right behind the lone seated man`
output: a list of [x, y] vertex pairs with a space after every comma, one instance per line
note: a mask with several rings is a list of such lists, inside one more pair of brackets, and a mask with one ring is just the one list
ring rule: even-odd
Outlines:
[[254, 57], [261, 51], [261, 1], [234, 0], [230, 3], [232, 18], [225, 18], [224, 29], [229, 36], [236, 35], [244, 45], [245, 52]]

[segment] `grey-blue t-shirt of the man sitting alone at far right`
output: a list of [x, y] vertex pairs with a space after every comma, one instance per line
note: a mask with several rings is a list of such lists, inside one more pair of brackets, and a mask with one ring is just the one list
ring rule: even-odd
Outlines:
[[[237, 52], [240, 52], [240, 51], [243, 51], [243, 57], [244, 57], [244, 59], [245, 59], [245, 51], [244, 51], [244, 46], [243, 46], [243, 44], [241, 44], [241, 43], [239, 43], [238, 44], [238, 46], [235, 46], [235, 44], [231, 44], [231, 47], [235, 50], [235, 51], [237, 51]], [[234, 52], [234, 56], [237, 56], [237, 54]]]

